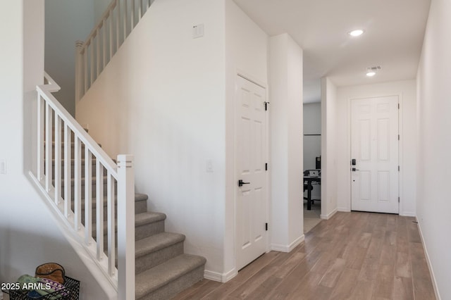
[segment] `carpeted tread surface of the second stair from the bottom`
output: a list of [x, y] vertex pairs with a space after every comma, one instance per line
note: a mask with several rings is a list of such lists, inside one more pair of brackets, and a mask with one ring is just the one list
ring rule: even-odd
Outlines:
[[172, 232], [161, 232], [159, 234], [140, 239], [135, 243], [135, 258], [139, 258], [173, 244], [183, 242], [184, 240], [185, 235]]

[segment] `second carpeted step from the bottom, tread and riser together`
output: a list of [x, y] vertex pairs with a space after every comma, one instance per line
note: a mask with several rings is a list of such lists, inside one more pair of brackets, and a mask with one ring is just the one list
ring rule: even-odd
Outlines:
[[135, 243], [135, 272], [142, 273], [149, 268], [183, 254], [185, 235], [161, 232]]

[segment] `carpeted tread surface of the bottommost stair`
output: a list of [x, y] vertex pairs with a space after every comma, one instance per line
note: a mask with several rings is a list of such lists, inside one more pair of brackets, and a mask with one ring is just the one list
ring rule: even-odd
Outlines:
[[190, 271], [204, 265], [201, 256], [180, 254], [154, 268], [136, 275], [135, 296], [140, 299]]

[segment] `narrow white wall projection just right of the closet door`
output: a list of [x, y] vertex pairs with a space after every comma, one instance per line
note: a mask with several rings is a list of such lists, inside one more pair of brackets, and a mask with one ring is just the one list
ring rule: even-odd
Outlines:
[[302, 49], [288, 34], [269, 41], [271, 248], [302, 242]]

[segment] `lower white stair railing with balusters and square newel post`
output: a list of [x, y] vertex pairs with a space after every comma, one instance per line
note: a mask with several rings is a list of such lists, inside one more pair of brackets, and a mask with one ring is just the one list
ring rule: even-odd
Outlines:
[[54, 98], [59, 87], [45, 77], [37, 86], [34, 179], [119, 299], [135, 299], [133, 157], [119, 155], [116, 165]]

